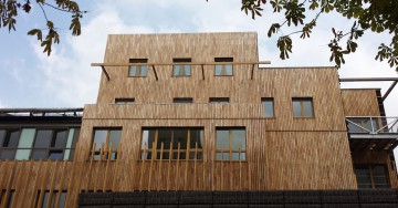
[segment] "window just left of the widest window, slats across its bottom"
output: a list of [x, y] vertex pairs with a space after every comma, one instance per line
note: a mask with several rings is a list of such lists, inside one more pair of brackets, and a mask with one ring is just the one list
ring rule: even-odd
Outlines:
[[[97, 128], [94, 129], [93, 159], [117, 159], [117, 148], [122, 138], [122, 128]], [[112, 147], [111, 147], [112, 145]], [[109, 152], [111, 147], [111, 153]]]

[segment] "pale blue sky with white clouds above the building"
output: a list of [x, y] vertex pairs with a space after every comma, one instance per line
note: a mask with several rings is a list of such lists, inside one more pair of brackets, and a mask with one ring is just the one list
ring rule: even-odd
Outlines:
[[[282, 22], [282, 15], [266, 10], [252, 20], [240, 11], [240, 0], [96, 0], [77, 1], [88, 10], [82, 22], [81, 37], [71, 37], [70, 19], [48, 11], [55, 27], [61, 28], [61, 44], [54, 45], [50, 58], [42, 53], [35, 38], [25, 35], [32, 28], [44, 28], [44, 19], [36, 8], [30, 14], [20, 12], [18, 32], [0, 29], [0, 107], [81, 107], [95, 103], [100, 84], [100, 67], [108, 33], [172, 33], [172, 32], [240, 32], [256, 31], [260, 60], [271, 66], [323, 66], [328, 61], [327, 43], [331, 28], [348, 30], [352, 21], [336, 13], [320, 18], [311, 39], [293, 37], [291, 59], [279, 59], [276, 37], [269, 39], [271, 23]], [[57, 22], [62, 22], [59, 23]], [[290, 30], [285, 29], [285, 33]], [[341, 77], [397, 77], [386, 62], [375, 61], [377, 46], [389, 43], [388, 34], [365, 33], [355, 54], [346, 58]], [[359, 83], [358, 87], [383, 87], [390, 83]], [[344, 84], [343, 86], [348, 86]], [[352, 85], [349, 85], [350, 87]], [[385, 102], [387, 115], [398, 116], [398, 87]]]

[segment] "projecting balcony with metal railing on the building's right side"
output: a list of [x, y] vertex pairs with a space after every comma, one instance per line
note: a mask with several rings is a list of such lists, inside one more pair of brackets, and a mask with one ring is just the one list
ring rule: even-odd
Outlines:
[[398, 145], [398, 117], [347, 116], [349, 148], [392, 150]]

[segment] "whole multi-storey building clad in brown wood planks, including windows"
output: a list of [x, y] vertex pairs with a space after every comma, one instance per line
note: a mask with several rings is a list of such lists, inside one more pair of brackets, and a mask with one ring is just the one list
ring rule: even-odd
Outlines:
[[81, 125], [0, 110], [0, 207], [75, 207], [82, 191], [398, 188], [397, 121], [379, 90], [342, 90], [336, 67], [266, 63], [253, 32], [108, 35], [97, 103], [71, 115]]

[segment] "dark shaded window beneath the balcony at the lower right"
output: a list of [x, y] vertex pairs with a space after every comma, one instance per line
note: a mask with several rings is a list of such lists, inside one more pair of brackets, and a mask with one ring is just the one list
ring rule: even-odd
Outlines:
[[358, 188], [389, 188], [386, 165], [355, 166]]

